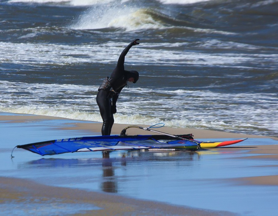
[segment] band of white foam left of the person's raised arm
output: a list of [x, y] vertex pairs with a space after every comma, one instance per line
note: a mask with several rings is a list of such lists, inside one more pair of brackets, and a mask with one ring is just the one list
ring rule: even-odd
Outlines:
[[[116, 45], [116, 46], [115, 46]], [[118, 56], [123, 48], [103, 45], [60, 45], [60, 44], [15, 44], [0, 42], [0, 55], [2, 62], [10, 61], [20, 64], [58, 64], [66, 65], [71, 63], [85, 62], [116, 62], [118, 59], [111, 59], [111, 56]], [[107, 56], [107, 50], [110, 55]], [[74, 57], [86, 55], [85, 58]], [[89, 58], [88, 58], [89, 57]]]

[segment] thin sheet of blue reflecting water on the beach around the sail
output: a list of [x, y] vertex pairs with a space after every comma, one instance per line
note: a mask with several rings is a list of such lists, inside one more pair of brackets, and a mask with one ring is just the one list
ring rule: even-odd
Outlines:
[[49, 140], [50, 137], [65, 138], [69, 133], [73, 137], [75, 134], [78, 137], [89, 135], [86, 131], [53, 127], [72, 121], [75, 120], [40, 120], [27, 125], [1, 123], [2, 129], [7, 128], [14, 134], [11, 137], [3, 134], [0, 175], [175, 205], [227, 210], [240, 215], [276, 214], [277, 186], [244, 185], [234, 179], [277, 175], [277, 160], [240, 158], [252, 155], [252, 152], [246, 154], [240, 146], [278, 145], [278, 141], [272, 139], [248, 138], [233, 145], [238, 147], [237, 151], [229, 148], [196, 152], [114, 151], [109, 155], [79, 152], [41, 157], [15, 149], [15, 158], [11, 159], [11, 150], [16, 144]]

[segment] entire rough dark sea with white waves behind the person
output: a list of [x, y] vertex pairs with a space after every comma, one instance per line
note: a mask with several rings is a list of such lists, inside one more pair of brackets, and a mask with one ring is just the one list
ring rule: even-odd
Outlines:
[[278, 136], [277, 0], [0, 0], [0, 112], [102, 121], [95, 98], [133, 39], [115, 123]]

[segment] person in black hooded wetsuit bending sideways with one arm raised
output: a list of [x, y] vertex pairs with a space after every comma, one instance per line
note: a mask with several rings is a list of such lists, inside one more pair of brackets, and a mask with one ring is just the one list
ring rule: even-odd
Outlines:
[[103, 120], [101, 129], [102, 135], [110, 135], [114, 123], [113, 114], [117, 112], [116, 102], [119, 94], [127, 82], [136, 83], [139, 79], [139, 73], [135, 70], [124, 70], [124, 57], [133, 45], [137, 45], [137, 40], [133, 40], [120, 54], [116, 68], [113, 70], [110, 78], [107, 77], [100, 85], [96, 101], [99, 106], [100, 115]]

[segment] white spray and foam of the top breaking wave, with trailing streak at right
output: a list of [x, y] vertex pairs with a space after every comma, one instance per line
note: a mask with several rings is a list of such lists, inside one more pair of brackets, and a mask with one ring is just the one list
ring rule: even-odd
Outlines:
[[[169, 26], [154, 17], [166, 16], [174, 19], [171, 15], [160, 14], [154, 9], [140, 8], [137, 5], [107, 4], [92, 6], [79, 16], [74, 24], [69, 28], [73, 29], [102, 29], [102, 28], [121, 28], [128, 32], [142, 29], [166, 29], [177, 28]], [[217, 33], [223, 35], [236, 35], [234, 32], [225, 32], [208, 28], [181, 27], [192, 32]]]

